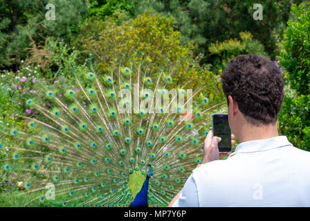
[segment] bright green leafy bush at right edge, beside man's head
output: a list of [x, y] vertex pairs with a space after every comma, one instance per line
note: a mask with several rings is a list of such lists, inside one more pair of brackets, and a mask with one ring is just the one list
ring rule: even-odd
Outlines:
[[310, 150], [310, 8], [292, 6], [293, 18], [284, 32], [280, 65], [288, 87], [279, 115], [280, 133], [298, 148]]

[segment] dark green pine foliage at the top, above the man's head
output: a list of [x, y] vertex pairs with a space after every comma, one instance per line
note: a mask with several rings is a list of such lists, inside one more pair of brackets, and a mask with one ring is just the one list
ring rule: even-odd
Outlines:
[[[300, 1], [237, 1], [237, 0], [132, 0], [136, 4], [135, 15], [145, 8], [154, 8], [166, 17], [174, 17], [174, 27], [182, 33], [181, 41], [198, 44], [195, 51], [206, 55], [204, 62], [212, 64], [208, 48], [216, 41], [237, 38], [239, 32], [248, 31], [260, 41], [271, 59], [277, 55], [277, 40], [281, 37], [289, 19], [291, 3]], [[263, 6], [263, 19], [253, 19], [255, 3]]]

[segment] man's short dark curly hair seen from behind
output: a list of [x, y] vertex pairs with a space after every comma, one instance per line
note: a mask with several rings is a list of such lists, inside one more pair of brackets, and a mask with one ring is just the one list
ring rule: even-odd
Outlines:
[[277, 122], [284, 81], [273, 61], [261, 55], [239, 55], [230, 61], [221, 80], [228, 105], [231, 95], [250, 124]]

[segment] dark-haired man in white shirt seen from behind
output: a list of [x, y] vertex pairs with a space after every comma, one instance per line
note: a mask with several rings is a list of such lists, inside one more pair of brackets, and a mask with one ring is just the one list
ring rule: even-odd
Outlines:
[[239, 55], [221, 79], [230, 129], [240, 144], [219, 160], [221, 138], [210, 131], [203, 163], [169, 206], [310, 206], [310, 152], [277, 133], [281, 71], [266, 57]]

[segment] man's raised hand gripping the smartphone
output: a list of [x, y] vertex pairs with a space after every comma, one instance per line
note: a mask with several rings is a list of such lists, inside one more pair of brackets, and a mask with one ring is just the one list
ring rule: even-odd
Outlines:
[[[235, 144], [235, 135], [231, 135], [231, 144]], [[213, 160], [219, 160], [221, 157], [229, 156], [231, 152], [219, 153], [219, 148], [217, 144], [221, 142], [221, 137], [213, 136], [212, 130], [209, 131], [205, 141], [203, 142], [203, 160], [202, 163], [206, 164]]]

